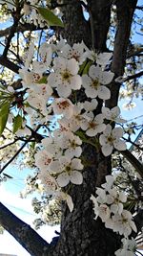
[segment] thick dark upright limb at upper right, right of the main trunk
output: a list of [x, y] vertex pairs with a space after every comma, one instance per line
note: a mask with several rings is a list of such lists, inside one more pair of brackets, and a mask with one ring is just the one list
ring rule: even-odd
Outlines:
[[[133, 21], [133, 12], [136, 7], [137, 0], [119, 0], [116, 1], [117, 13], [117, 30], [115, 35], [113, 57], [112, 57], [112, 72], [116, 77], [123, 76], [127, 58], [127, 48], [131, 33]], [[106, 102], [109, 108], [117, 105], [120, 84], [112, 81], [110, 86], [112, 97]]]

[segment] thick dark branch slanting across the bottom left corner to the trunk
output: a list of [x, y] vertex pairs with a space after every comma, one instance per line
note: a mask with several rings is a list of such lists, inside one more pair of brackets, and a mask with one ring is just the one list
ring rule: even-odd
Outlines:
[[50, 244], [41, 238], [26, 222], [21, 221], [0, 202], [0, 224], [31, 256], [49, 255]]

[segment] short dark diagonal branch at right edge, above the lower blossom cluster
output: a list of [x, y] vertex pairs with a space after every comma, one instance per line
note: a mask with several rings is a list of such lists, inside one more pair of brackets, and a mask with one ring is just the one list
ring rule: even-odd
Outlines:
[[122, 155], [133, 165], [136, 172], [143, 178], [143, 165], [136, 159], [131, 151], [121, 151]]

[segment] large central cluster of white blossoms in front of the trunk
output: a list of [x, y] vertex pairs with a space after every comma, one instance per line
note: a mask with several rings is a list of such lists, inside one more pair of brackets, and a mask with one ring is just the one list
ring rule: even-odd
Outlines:
[[[61, 38], [56, 44], [42, 43], [38, 58], [35, 58], [32, 44], [24, 56], [25, 66], [19, 70], [28, 92], [23, 107], [31, 117], [31, 126], [34, 119], [36, 124], [43, 122], [47, 126], [53, 116], [56, 117], [56, 128], [42, 140], [40, 151], [35, 154], [35, 165], [40, 170], [38, 177], [43, 189], [66, 200], [70, 210], [72, 198], [62, 188], [69, 183], [80, 185], [83, 182], [82, 135], [87, 137], [87, 143], [97, 135], [105, 156], [114, 149], [126, 150], [121, 140], [123, 129], [112, 128], [112, 122], [124, 122], [120, 109], [104, 105], [111, 97], [107, 85], [113, 73], [105, 70], [110, 58], [111, 53], [97, 55], [83, 42], [71, 47]], [[77, 100], [80, 89], [85, 101]], [[96, 111], [98, 101], [103, 103], [101, 112]]]

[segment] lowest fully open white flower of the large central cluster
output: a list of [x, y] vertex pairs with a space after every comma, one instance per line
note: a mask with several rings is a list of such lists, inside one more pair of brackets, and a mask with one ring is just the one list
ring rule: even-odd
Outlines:
[[70, 181], [76, 185], [83, 182], [82, 174], [77, 171], [83, 169], [80, 159], [61, 156], [59, 160], [51, 162], [50, 169], [51, 172], [58, 174], [56, 180], [60, 187], [67, 186]]

